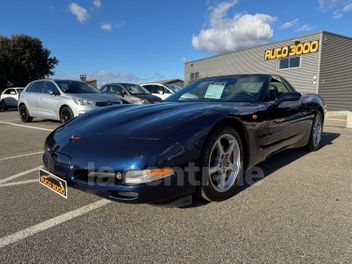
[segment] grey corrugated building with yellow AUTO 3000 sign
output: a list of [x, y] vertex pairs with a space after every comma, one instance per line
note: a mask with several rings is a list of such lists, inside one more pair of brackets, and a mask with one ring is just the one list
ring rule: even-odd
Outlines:
[[185, 63], [185, 82], [269, 73], [299, 92], [320, 94], [329, 111], [352, 111], [352, 38], [319, 32]]

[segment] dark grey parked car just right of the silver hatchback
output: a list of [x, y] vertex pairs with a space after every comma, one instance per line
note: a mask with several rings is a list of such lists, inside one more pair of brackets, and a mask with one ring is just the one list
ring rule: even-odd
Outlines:
[[159, 97], [152, 95], [142, 86], [132, 83], [105, 84], [100, 90], [104, 94], [122, 97], [131, 104], [153, 104], [161, 101]]

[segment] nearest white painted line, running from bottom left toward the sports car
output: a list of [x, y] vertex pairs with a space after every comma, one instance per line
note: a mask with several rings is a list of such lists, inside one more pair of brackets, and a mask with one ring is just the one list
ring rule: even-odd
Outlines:
[[47, 221], [44, 221], [40, 224], [37, 224], [37, 225], [34, 225], [32, 227], [29, 227], [29, 228], [26, 228], [26, 229], [23, 229], [21, 231], [18, 231], [14, 234], [11, 234], [11, 235], [8, 235], [6, 237], [3, 237], [3, 238], [0, 238], [0, 248], [3, 248], [7, 245], [10, 245], [10, 244], [13, 244], [13, 243], [16, 243], [22, 239], [25, 239], [29, 236], [33, 236], [35, 235], [36, 233], [39, 233], [41, 231], [44, 231], [44, 230], [47, 230], [51, 227], [54, 227], [54, 226], [57, 226], [57, 225], [60, 225], [62, 223], [65, 223], [73, 218], [76, 218], [78, 216], [82, 216], [86, 213], [89, 213], [95, 209], [98, 209], [98, 208], [101, 208], [107, 204], [111, 203], [111, 201], [109, 200], [105, 200], [105, 199], [102, 199], [102, 200], [99, 200], [97, 202], [94, 202], [94, 203], [91, 203], [91, 204], [88, 204], [86, 206], [83, 206], [81, 208], [78, 208], [76, 210], [73, 210], [73, 211], [70, 211], [68, 213], [65, 213], [63, 215], [60, 215], [60, 216], [57, 216], [57, 217], [54, 217], [52, 219], [49, 219]]

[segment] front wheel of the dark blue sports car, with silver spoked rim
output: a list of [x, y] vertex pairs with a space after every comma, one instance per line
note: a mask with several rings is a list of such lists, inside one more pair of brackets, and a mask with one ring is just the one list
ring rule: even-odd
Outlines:
[[202, 151], [201, 197], [217, 202], [232, 197], [243, 177], [243, 157], [243, 144], [237, 131], [229, 126], [216, 129]]

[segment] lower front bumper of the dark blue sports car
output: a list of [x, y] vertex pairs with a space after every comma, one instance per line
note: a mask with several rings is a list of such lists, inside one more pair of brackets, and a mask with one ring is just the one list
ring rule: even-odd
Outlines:
[[[158, 203], [187, 196], [195, 192], [195, 185], [185, 175], [171, 175], [150, 183], [127, 185], [122, 179], [102, 179], [88, 176], [85, 169], [64, 165], [64, 158], [49, 164], [43, 155], [44, 169], [67, 181], [70, 187], [93, 193], [103, 198], [125, 203]], [[83, 174], [82, 175], [82, 171]]]

